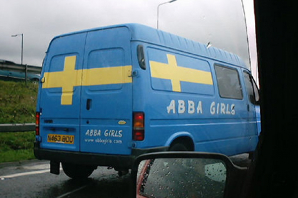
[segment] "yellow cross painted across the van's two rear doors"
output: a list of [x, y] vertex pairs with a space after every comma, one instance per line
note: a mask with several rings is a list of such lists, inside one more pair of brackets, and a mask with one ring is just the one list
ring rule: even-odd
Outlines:
[[66, 56], [64, 70], [45, 72], [42, 88], [62, 88], [61, 104], [73, 104], [75, 86], [132, 83], [129, 77], [132, 66], [116, 66], [94, 69], [75, 69], [76, 56]]

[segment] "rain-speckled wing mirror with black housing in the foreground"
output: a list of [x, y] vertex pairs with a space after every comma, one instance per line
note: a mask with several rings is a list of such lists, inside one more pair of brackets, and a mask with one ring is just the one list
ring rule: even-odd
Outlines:
[[139, 156], [132, 176], [136, 198], [236, 198], [246, 171], [223, 154], [158, 152]]

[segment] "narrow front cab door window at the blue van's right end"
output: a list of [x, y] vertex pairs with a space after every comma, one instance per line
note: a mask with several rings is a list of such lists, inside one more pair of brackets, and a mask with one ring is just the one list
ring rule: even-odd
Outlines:
[[246, 71], [243, 72], [243, 77], [249, 101], [253, 104], [257, 104], [259, 101], [259, 91], [255, 82], [253, 81], [251, 75]]

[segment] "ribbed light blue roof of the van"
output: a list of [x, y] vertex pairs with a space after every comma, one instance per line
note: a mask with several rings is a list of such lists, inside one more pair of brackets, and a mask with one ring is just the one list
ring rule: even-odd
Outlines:
[[190, 39], [186, 39], [171, 33], [164, 32], [162, 30], [158, 30], [155, 28], [151, 28], [149, 26], [135, 24], [135, 23], [119, 24], [119, 25], [81, 30], [81, 31], [59, 35], [54, 39], [59, 37], [69, 36], [72, 34], [91, 32], [91, 31], [103, 30], [103, 29], [119, 28], [119, 27], [126, 27], [130, 30], [132, 41], [142, 41], [142, 42], [152, 43], [159, 46], [170, 47], [176, 50], [186, 51], [193, 54], [200, 54], [200, 56], [216, 59], [218, 61], [237, 65], [250, 70], [249, 66], [247, 66], [244, 63], [244, 61], [234, 53], [225, 51], [223, 49], [218, 49], [215, 47], [207, 48], [206, 45], [201, 44], [199, 42], [195, 42]]

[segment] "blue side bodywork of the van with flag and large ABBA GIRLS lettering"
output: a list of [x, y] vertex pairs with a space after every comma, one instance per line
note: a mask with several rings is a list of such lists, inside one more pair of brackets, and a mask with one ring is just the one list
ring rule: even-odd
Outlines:
[[[239, 99], [219, 96], [214, 68], [218, 62], [161, 47], [146, 50], [149, 83], [136, 94], [146, 104], [146, 138], [138, 148], [169, 146], [165, 144], [175, 134], [193, 137], [196, 151], [232, 155], [255, 148], [257, 133], [246, 130], [245, 92]], [[225, 65], [241, 75], [237, 67]]]

